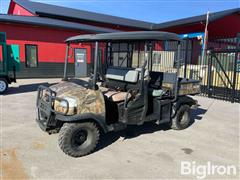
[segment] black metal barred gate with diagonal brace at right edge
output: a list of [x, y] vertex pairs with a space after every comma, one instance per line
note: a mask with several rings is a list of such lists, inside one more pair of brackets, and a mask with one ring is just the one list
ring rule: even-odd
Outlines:
[[239, 52], [239, 49], [209, 50], [207, 84], [202, 85], [202, 93], [240, 102]]

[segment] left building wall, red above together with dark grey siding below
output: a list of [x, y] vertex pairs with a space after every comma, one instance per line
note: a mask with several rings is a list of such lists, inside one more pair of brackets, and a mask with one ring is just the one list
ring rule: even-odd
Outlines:
[[[7, 44], [17, 44], [20, 48], [21, 70], [18, 78], [26, 77], [62, 77], [68, 37], [89, 34], [86, 31], [53, 29], [30, 25], [0, 23], [0, 32], [6, 32]], [[25, 45], [37, 45], [38, 67], [29, 68], [25, 65]], [[74, 48], [87, 49], [87, 63], [91, 62], [91, 45], [74, 44], [69, 51], [69, 75], [74, 76]], [[89, 66], [89, 65], [88, 65]]]

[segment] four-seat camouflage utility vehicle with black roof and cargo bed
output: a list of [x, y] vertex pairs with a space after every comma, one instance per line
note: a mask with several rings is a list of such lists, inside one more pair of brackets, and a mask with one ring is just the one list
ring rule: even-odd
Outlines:
[[[173, 41], [177, 53], [164, 54], [164, 42]], [[49, 88], [40, 86], [37, 95], [37, 122], [49, 134], [59, 132], [64, 153], [87, 155], [97, 147], [100, 132], [128, 125], [155, 121], [176, 130], [190, 125], [190, 108], [197, 102], [187, 95], [198, 94], [200, 82], [179, 77], [181, 39], [177, 34], [116, 32], [75, 36], [66, 43], [63, 81]], [[95, 48], [94, 73], [84, 85], [67, 77], [70, 44], [77, 43]], [[98, 62], [99, 48], [105, 51], [103, 63]]]

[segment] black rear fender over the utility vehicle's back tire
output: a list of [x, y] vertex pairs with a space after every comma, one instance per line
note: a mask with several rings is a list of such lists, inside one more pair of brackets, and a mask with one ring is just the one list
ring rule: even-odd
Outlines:
[[187, 104], [191, 107], [191, 106], [197, 105], [198, 102], [197, 102], [197, 100], [194, 100], [193, 98], [191, 98], [189, 96], [179, 96], [172, 105], [172, 117], [175, 116], [177, 110], [183, 104]]

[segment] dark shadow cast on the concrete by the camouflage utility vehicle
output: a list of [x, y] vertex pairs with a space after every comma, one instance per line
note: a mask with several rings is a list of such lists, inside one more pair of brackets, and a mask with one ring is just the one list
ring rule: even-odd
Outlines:
[[[202, 109], [202, 108], [197, 108], [195, 110], [192, 110], [192, 112], [191, 112], [192, 122], [191, 122], [190, 126], [192, 126], [196, 120], [202, 120], [203, 115], [206, 112], [207, 112], [207, 110]], [[190, 126], [188, 128], [191, 128]], [[100, 140], [99, 146], [96, 151], [106, 148], [107, 146], [113, 144], [120, 138], [122, 138], [123, 141], [125, 141], [128, 139], [138, 137], [140, 135], [150, 134], [150, 133], [154, 133], [157, 131], [167, 131], [167, 130], [171, 130], [171, 127], [169, 124], [158, 125], [154, 122], [146, 122], [141, 126], [131, 125], [131, 126], [128, 126], [127, 129], [119, 131], [119, 132], [109, 132], [107, 134], [102, 134], [101, 135], [102, 137], [100, 138], [101, 140]]]

